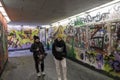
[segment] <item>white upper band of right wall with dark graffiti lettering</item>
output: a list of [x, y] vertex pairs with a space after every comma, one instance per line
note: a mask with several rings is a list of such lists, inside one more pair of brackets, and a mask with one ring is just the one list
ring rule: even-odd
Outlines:
[[83, 26], [86, 23], [101, 22], [113, 18], [120, 18], [120, 2], [92, 12], [86, 12], [82, 16], [77, 16], [76, 20], [74, 20], [74, 25]]

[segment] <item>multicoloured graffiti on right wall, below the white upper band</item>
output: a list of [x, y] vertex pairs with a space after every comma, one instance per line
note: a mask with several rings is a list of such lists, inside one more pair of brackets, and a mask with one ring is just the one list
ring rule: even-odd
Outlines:
[[120, 76], [120, 23], [65, 29], [68, 56]]

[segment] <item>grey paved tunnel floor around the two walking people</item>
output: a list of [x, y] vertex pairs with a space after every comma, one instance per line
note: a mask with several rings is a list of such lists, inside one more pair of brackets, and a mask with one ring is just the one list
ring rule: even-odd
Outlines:
[[[14, 53], [20, 54], [21, 52]], [[30, 52], [25, 53], [28, 54]], [[67, 67], [68, 80], [113, 80], [70, 60], [67, 60]], [[51, 54], [48, 54], [45, 60], [45, 72], [46, 76], [44, 76], [44, 79], [43, 77], [37, 78], [31, 53], [26, 56], [16, 55], [9, 58], [1, 80], [57, 80], [55, 64]]]

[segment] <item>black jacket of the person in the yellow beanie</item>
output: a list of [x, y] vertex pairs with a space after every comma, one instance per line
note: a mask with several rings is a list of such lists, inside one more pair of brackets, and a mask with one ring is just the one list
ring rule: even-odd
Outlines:
[[[57, 48], [60, 48], [61, 51], [58, 51]], [[57, 60], [62, 60], [67, 55], [66, 44], [63, 40], [58, 41], [57, 39], [54, 41], [52, 45], [52, 54]]]

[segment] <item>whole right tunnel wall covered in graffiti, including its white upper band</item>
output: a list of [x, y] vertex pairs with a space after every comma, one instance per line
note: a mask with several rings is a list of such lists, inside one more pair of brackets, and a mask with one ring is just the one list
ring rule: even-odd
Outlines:
[[52, 35], [63, 34], [68, 57], [120, 77], [119, 5], [120, 2], [77, 16], [54, 29]]

